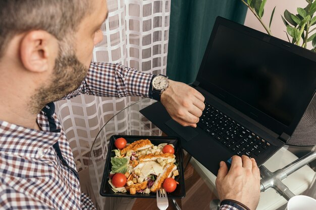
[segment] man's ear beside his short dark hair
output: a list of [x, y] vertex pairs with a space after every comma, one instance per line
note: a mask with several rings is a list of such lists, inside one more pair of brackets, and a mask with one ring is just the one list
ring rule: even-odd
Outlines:
[[45, 72], [54, 68], [58, 55], [57, 39], [43, 30], [27, 32], [21, 40], [20, 57], [31, 72]]

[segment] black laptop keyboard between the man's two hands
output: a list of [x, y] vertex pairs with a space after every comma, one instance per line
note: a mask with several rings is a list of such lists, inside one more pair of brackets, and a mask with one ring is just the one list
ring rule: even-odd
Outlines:
[[197, 125], [238, 156], [255, 158], [270, 147], [265, 139], [207, 103]]

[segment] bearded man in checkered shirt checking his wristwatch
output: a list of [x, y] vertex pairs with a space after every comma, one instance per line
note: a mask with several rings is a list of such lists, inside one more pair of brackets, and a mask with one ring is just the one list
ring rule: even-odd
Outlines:
[[[0, 2], [0, 209], [94, 209], [80, 191], [52, 102], [79, 94], [153, 94], [152, 75], [120, 64], [90, 63], [107, 15], [106, 0]], [[204, 97], [183, 83], [169, 84], [158, 100], [180, 124], [196, 127]], [[253, 174], [251, 183], [242, 182], [252, 192], [255, 162], [235, 157], [236, 170], [227, 173], [225, 167], [217, 182], [220, 198], [230, 199], [223, 209], [242, 209], [238, 201], [254, 209], [257, 196], [249, 201], [243, 188], [231, 189], [227, 183]]]

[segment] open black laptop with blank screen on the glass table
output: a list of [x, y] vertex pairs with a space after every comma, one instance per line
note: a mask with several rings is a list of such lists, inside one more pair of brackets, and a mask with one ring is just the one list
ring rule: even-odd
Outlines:
[[160, 102], [140, 112], [215, 175], [233, 155], [262, 165], [290, 139], [315, 94], [316, 54], [218, 17], [191, 85], [205, 97], [196, 128], [172, 120]]

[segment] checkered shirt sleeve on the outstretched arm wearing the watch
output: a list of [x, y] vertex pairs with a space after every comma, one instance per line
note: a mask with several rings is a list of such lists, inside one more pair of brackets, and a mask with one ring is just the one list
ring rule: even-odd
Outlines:
[[148, 97], [151, 78], [151, 74], [141, 73], [119, 63], [92, 62], [80, 87], [62, 99], [70, 99], [79, 94]]

